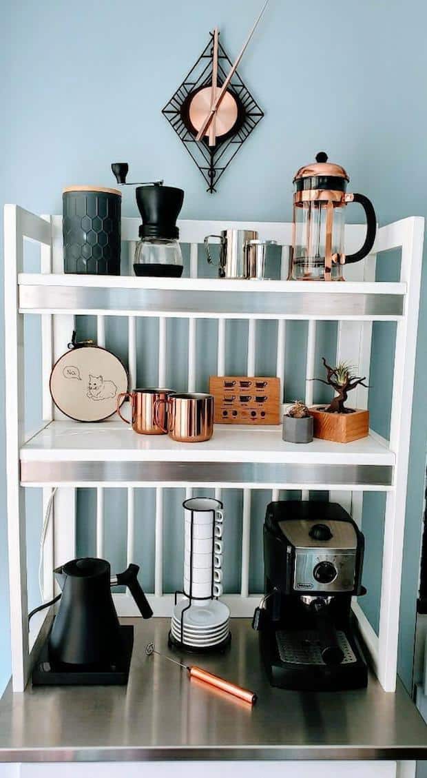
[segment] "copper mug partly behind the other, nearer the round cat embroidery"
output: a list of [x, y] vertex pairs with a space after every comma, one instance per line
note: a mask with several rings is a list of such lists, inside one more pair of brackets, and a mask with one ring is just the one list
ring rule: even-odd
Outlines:
[[[132, 425], [132, 429], [139, 435], [164, 435], [167, 426], [167, 400], [173, 394], [171, 389], [134, 389], [122, 392], [117, 397], [117, 413], [122, 421]], [[120, 412], [120, 403], [123, 398], [129, 398], [131, 404], [131, 422], [124, 419]], [[156, 403], [159, 412], [155, 416]]]

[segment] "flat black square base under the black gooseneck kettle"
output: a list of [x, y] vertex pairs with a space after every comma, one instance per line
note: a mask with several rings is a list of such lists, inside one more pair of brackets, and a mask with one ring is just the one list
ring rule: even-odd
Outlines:
[[115, 667], [65, 670], [55, 668], [49, 660], [47, 643], [44, 641], [40, 656], [33, 669], [33, 686], [122, 686], [128, 683], [134, 645], [134, 628], [126, 624], [120, 627], [123, 652]]

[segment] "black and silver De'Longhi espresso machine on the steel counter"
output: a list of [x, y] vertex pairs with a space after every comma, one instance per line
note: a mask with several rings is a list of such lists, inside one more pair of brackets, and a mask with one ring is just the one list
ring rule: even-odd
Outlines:
[[270, 503], [264, 523], [265, 594], [254, 614], [271, 685], [357, 689], [367, 684], [353, 595], [362, 587], [362, 532], [338, 503]]

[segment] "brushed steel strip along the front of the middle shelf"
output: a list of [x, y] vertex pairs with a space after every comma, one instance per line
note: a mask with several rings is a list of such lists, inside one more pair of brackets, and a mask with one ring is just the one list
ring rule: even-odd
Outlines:
[[21, 483], [192, 482], [199, 484], [318, 484], [387, 487], [387, 464], [275, 464], [264, 462], [22, 461]]

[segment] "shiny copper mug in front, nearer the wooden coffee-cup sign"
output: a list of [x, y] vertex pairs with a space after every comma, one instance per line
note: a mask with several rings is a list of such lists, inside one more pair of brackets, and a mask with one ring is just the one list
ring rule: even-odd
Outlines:
[[[167, 423], [161, 412], [167, 408]], [[201, 443], [213, 435], [214, 398], [212, 394], [170, 394], [154, 403], [154, 419], [164, 433], [180, 443]]]

